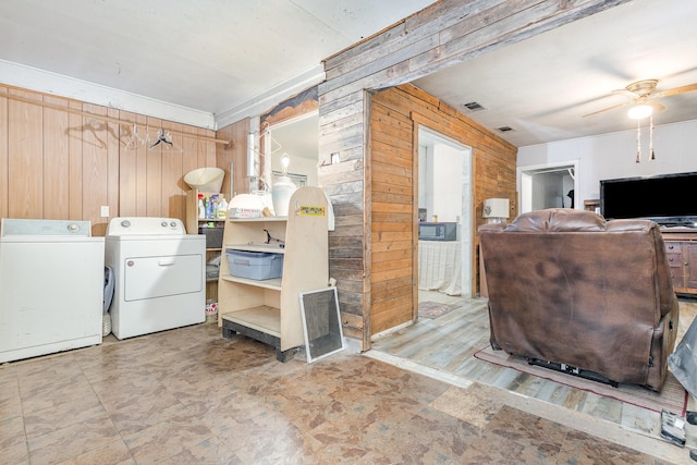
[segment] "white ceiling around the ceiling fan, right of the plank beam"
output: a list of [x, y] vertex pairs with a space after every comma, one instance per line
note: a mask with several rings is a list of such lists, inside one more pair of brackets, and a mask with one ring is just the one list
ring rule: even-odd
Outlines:
[[[612, 90], [636, 81], [660, 79], [658, 91], [697, 83], [695, 21], [697, 1], [636, 0], [414, 84], [518, 147], [632, 130], [628, 107], [584, 115], [629, 102]], [[472, 101], [486, 110], [469, 112]], [[697, 119], [697, 91], [659, 101], [656, 125]]]

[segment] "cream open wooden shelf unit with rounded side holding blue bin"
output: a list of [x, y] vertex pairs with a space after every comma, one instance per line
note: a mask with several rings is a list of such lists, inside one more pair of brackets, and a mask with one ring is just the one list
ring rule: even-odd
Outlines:
[[[328, 285], [328, 213], [320, 187], [301, 187], [291, 197], [288, 217], [225, 221], [218, 281], [218, 325], [224, 338], [241, 333], [270, 344], [280, 362], [304, 345], [299, 293]], [[228, 250], [282, 254], [282, 276], [232, 276]]]

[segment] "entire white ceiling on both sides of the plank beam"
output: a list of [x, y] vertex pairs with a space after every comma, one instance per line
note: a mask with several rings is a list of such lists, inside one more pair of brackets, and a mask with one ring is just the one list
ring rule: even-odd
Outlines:
[[[321, 60], [430, 3], [2, 0], [0, 60], [218, 118], [317, 84]], [[694, 0], [636, 0], [414, 84], [490, 130], [513, 127], [501, 136], [517, 146], [628, 130], [626, 109], [583, 115], [627, 101], [611, 91], [638, 79], [697, 83], [696, 19]], [[21, 85], [7, 69], [0, 82]], [[697, 91], [661, 102], [657, 125], [697, 119]]]

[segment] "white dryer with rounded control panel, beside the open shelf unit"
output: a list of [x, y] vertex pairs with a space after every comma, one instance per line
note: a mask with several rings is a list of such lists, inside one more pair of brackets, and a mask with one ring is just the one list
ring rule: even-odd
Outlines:
[[111, 331], [118, 339], [206, 320], [206, 236], [176, 218], [109, 221], [105, 262], [114, 272]]

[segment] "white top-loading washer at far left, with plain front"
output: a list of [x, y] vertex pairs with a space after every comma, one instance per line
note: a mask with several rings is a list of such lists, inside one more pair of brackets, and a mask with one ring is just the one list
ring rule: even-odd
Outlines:
[[100, 344], [105, 238], [89, 221], [0, 220], [0, 363]]

